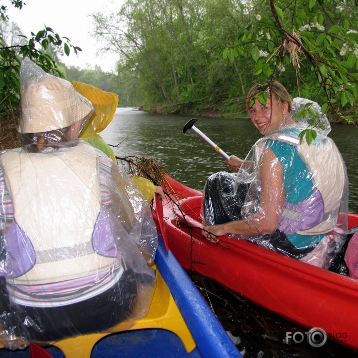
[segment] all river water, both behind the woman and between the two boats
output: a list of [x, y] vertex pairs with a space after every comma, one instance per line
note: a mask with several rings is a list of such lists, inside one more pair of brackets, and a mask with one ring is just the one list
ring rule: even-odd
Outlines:
[[[153, 157], [176, 180], [202, 190], [206, 178], [227, 170], [223, 159], [192, 131], [183, 133], [191, 116], [152, 115], [133, 108], [118, 108], [113, 121], [100, 133], [112, 145], [118, 157], [128, 155]], [[249, 120], [200, 117], [196, 127], [226, 153], [241, 158], [259, 138]], [[349, 211], [358, 213], [358, 166], [354, 126], [333, 125], [331, 137], [345, 160], [349, 179]], [[287, 331], [304, 332], [305, 328], [268, 312], [217, 283], [191, 275], [197, 287], [210, 302], [225, 329], [237, 337], [237, 346], [245, 358], [354, 357], [358, 353], [332, 341], [320, 348], [307, 343], [286, 344]], [[334, 309], [334, 307], [332, 307]], [[329, 312], [327, 312], [329, 314]]]

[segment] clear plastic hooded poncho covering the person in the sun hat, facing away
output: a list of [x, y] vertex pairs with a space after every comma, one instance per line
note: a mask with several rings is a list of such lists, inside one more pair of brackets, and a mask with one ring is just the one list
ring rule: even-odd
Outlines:
[[149, 203], [77, 138], [93, 106], [68, 81], [24, 60], [21, 105], [24, 145], [0, 154], [0, 343], [128, 329], [154, 293]]

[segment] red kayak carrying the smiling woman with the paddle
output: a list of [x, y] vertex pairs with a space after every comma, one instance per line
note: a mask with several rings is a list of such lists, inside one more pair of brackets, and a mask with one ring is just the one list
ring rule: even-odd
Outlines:
[[[154, 218], [184, 268], [216, 280], [307, 331], [323, 328], [328, 338], [358, 350], [358, 280], [244, 240], [222, 236], [219, 243], [209, 242], [201, 235], [202, 193], [170, 177], [167, 180], [164, 189], [172, 194], [163, 198], [163, 208], [153, 210]], [[358, 215], [349, 214], [349, 228], [356, 225]]]

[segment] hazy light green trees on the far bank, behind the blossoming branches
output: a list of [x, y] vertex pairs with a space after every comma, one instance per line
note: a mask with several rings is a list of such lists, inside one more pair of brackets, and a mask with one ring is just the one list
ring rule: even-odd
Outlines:
[[120, 70], [133, 75], [145, 103], [215, 103], [229, 93], [232, 78], [223, 44], [245, 17], [244, 5], [235, 4], [130, 0], [110, 16], [95, 14], [95, 34], [118, 52]]

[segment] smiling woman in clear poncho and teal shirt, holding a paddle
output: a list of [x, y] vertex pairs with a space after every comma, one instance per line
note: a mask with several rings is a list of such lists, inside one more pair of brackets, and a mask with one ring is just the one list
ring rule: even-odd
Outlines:
[[[348, 210], [345, 164], [327, 137], [326, 115], [315, 102], [292, 102], [276, 81], [254, 86], [246, 108], [263, 138], [245, 160], [231, 155], [224, 162], [237, 174], [208, 178], [202, 234], [214, 241], [222, 235], [247, 239], [328, 268], [345, 241]], [[299, 134], [312, 123], [316, 136], [308, 144]]]

